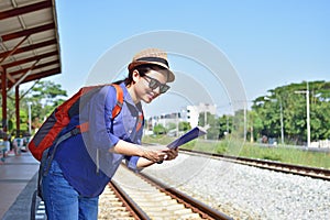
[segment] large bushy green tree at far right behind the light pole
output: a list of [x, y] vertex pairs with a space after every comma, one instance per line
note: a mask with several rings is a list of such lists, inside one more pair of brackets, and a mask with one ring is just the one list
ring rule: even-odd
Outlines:
[[[282, 113], [285, 139], [295, 144], [307, 141], [306, 94], [296, 92], [306, 92], [306, 85], [307, 82], [302, 81], [277, 87], [268, 90], [268, 96], [258, 97], [254, 100], [252, 111], [255, 111], [262, 121], [260, 134], [279, 138]], [[329, 139], [330, 82], [311, 81], [308, 85], [311, 140]]]

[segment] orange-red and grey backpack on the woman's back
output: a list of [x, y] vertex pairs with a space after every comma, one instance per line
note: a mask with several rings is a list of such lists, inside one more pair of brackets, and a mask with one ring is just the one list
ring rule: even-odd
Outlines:
[[[88, 122], [86, 122], [77, 125], [72, 132], [69, 132], [69, 135], [59, 135], [62, 130], [65, 129], [70, 122], [70, 119], [79, 114], [80, 102], [88, 101], [91, 96], [99, 91], [103, 86], [109, 85], [81, 88], [77, 94], [58, 106], [52, 112], [52, 114], [42, 124], [28, 145], [30, 152], [37, 161], [42, 160], [45, 150], [48, 150], [53, 144], [57, 145], [59, 142], [68, 139], [72, 135], [88, 131]], [[113, 86], [117, 91], [117, 105], [112, 110], [112, 119], [114, 119], [121, 111], [123, 105], [123, 90], [119, 85], [111, 84], [111, 86]]]

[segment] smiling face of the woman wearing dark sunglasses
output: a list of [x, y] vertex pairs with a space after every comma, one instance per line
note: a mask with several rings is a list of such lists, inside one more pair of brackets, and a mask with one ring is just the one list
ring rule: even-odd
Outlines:
[[151, 69], [145, 76], [140, 76], [138, 70], [134, 72], [138, 73], [136, 75], [133, 73], [133, 79], [135, 81], [133, 87], [136, 102], [142, 100], [146, 103], [150, 103], [162, 94], [161, 89], [166, 89], [166, 72], [162, 69]]

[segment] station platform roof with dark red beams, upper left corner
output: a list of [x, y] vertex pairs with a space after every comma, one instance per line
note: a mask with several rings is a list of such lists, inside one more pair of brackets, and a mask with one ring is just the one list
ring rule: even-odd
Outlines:
[[61, 70], [55, 0], [0, 0], [0, 72], [7, 88]]

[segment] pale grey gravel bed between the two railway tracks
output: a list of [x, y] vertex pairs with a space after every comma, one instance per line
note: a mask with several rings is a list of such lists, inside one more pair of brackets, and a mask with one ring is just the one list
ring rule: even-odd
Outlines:
[[330, 182], [179, 154], [143, 170], [234, 219], [330, 217]]

